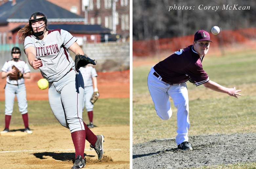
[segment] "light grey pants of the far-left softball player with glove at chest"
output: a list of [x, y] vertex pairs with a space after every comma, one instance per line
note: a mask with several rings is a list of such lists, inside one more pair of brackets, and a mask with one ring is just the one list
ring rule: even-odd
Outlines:
[[28, 113], [25, 84], [23, 83], [17, 86], [7, 83], [5, 86], [5, 115], [11, 116], [15, 95], [17, 96], [20, 113], [22, 115]]

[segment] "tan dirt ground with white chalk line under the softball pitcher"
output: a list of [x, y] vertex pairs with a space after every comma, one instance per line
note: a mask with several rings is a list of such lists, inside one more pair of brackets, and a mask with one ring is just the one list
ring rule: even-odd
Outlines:
[[[32, 127], [33, 134], [28, 135], [20, 130], [22, 128], [0, 136], [0, 168], [63, 169], [73, 166], [75, 150], [68, 129], [60, 125]], [[85, 168], [129, 169], [129, 126], [101, 126], [92, 131], [105, 136], [104, 155], [98, 161], [95, 150], [90, 150], [86, 141]]]

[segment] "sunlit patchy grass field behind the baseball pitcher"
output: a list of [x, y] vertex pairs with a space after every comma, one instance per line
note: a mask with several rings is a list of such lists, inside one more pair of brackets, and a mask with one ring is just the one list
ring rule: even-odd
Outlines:
[[[151, 59], [156, 60], [156, 58]], [[242, 96], [237, 99], [207, 89], [203, 85], [196, 87], [187, 82], [189, 136], [256, 131], [255, 63], [255, 51], [229, 53], [218, 57], [205, 56], [203, 68], [210, 80], [225, 87], [241, 89]], [[172, 117], [169, 120], [161, 120], [156, 114], [148, 92], [147, 75], [154, 64], [133, 68], [133, 144], [153, 139], [174, 138], [177, 135], [177, 109], [174, 107], [172, 99], [170, 98]], [[212, 166], [212, 168], [247, 169], [252, 166], [255, 166], [255, 163], [219, 165]]]

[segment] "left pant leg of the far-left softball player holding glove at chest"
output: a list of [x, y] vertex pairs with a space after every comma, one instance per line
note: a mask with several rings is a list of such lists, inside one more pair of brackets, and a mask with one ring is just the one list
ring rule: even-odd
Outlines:
[[18, 86], [6, 84], [5, 86], [5, 115], [11, 116], [14, 105], [15, 92]]

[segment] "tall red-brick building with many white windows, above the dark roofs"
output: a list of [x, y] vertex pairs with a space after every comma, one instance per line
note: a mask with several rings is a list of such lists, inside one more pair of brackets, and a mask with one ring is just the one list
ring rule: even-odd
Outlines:
[[[129, 36], [130, 0], [48, 0], [85, 18], [85, 24], [98, 24], [114, 34]], [[113, 20], [113, 18], [115, 18]]]

